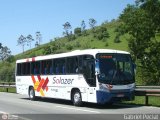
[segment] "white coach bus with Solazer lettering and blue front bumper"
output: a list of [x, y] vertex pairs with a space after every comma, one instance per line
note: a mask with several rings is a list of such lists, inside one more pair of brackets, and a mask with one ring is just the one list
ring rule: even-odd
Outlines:
[[19, 94], [82, 102], [114, 103], [133, 100], [134, 64], [125, 51], [75, 50], [16, 61]]

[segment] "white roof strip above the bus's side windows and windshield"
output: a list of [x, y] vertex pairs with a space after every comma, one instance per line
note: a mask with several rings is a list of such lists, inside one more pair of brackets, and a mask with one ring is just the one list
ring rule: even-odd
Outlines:
[[64, 58], [64, 57], [77, 56], [77, 55], [93, 55], [93, 56], [95, 56], [97, 53], [130, 54], [129, 52], [121, 51], [121, 50], [112, 50], [112, 49], [86, 49], [86, 50], [74, 50], [74, 51], [66, 52], [66, 53], [59, 53], [59, 54], [51, 54], [51, 55], [44, 55], [44, 56], [37, 56], [37, 57], [32, 57], [32, 58], [26, 58], [26, 59], [17, 60], [16, 63], [39, 61], [39, 60], [47, 60], [47, 59], [53, 59], [53, 58]]

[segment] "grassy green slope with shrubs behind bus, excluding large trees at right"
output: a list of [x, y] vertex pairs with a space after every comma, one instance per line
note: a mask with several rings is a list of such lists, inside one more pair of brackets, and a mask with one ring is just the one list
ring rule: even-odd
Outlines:
[[120, 22], [118, 20], [113, 20], [84, 31], [80, 30], [76, 32], [77, 28], [75, 28], [73, 34], [64, 35], [64, 37], [61, 38], [54, 38], [47, 44], [39, 45], [15, 56], [10, 56], [6, 61], [0, 63], [1, 80], [13, 81], [15, 61], [17, 59], [90, 48], [129, 51], [127, 42], [128, 35], [126, 34], [119, 38], [116, 37], [117, 33], [115, 30], [119, 24]]

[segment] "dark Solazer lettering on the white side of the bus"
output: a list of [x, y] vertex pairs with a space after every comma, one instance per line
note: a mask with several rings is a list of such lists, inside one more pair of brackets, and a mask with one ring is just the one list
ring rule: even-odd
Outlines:
[[53, 84], [72, 84], [74, 79], [53, 77]]

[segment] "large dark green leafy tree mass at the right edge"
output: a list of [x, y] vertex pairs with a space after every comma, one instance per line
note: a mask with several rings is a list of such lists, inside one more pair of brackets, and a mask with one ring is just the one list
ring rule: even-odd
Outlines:
[[[160, 1], [137, 0], [128, 5], [120, 16], [121, 32], [130, 35], [129, 48], [135, 60], [140, 62], [145, 84], [160, 85], [159, 58]], [[156, 49], [155, 49], [156, 48]]]

